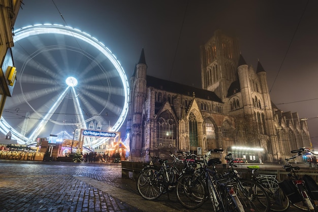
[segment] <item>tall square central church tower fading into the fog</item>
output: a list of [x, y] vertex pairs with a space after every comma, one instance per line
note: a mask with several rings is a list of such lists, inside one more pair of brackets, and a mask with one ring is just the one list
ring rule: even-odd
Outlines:
[[238, 39], [216, 30], [200, 51], [202, 89], [213, 91], [221, 99], [226, 98], [229, 86], [237, 80]]

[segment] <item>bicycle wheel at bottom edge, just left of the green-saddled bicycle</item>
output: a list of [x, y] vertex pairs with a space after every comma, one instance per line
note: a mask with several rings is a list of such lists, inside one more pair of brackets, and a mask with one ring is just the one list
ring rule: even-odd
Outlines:
[[245, 211], [270, 210], [270, 199], [263, 186], [249, 179], [239, 179], [234, 184], [235, 193], [239, 197]]

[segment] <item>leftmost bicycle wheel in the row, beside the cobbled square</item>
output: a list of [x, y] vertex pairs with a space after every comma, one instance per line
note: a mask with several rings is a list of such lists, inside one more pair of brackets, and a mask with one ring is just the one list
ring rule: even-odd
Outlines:
[[149, 167], [140, 172], [137, 180], [139, 194], [148, 200], [160, 197], [164, 191], [163, 176], [155, 168]]

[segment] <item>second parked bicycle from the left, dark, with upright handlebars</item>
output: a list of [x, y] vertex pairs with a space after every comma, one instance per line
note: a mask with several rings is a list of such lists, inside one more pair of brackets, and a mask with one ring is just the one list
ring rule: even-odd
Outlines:
[[[212, 152], [220, 153], [223, 150], [210, 150], [204, 156], [195, 154], [187, 156], [187, 158], [195, 156], [203, 160], [195, 159], [199, 167], [193, 173], [184, 174], [178, 179], [176, 186], [178, 201], [187, 208], [195, 209], [209, 198], [214, 211], [244, 211], [243, 205], [233, 189], [233, 182], [216, 180], [215, 164], [219, 164], [221, 161], [219, 158], [210, 159]], [[213, 166], [213, 170], [207, 167], [208, 164]]]

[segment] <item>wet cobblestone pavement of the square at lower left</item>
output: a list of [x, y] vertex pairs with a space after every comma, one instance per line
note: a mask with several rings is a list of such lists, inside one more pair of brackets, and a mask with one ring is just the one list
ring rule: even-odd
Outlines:
[[[120, 163], [0, 160], [0, 212], [191, 211], [169, 197], [143, 199]], [[196, 211], [211, 211], [209, 201]]]

